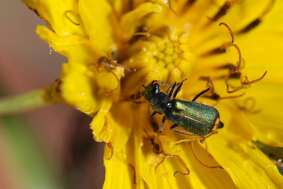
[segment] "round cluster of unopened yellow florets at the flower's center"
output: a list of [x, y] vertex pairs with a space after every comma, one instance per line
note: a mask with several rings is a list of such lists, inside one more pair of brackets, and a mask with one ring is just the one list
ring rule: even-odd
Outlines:
[[134, 67], [138, 72], [135, 75], [142, 76], [138, 79], [143, 83], [153, 79], [180, 81], [196, 64], [196, 57], [190, 52], [189, 33], [164, 26], [151, 33], [136, 33], [134, 37], [137, 39], [132, 40], [127, 51], [129, 58], [123, 64]]

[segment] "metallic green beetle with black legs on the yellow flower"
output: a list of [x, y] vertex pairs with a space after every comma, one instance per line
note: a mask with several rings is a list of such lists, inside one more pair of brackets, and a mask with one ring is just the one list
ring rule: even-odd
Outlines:
[[[208, 92], [211, 89], [210, 87], [197, 94], [192, 101], [175, 99], [184, 81], [181, 81], [180, 83], [174, 82], [171, 85], [159, 80], [153, 80], [147, 86], [140, 86], [140, 88], [145, 88], [142, 95], [154, 110], [152, 114], [148, 111], [149, 117], [153, 117], [157, 113], [165, 114], [156, 139], [163, 131], [165, 120], [174, 123], [170, 127], [171, 130], [187, 135], [202, 137], [203, 139], [201, 142], [203, 142], [207, 137], [217, 133], [215, 129], [222, 128], [224, 126], [224, 124], [220, 122], [218, 110], [212, 106], [195, 102], [198, 97]], [[160, 91], [158, 83], [169, 86], [170, 88], [168, 89], [168, 93]], [[134, 99], [139, 93], [140, 88], [137, 90]], [[178, 126], [188, 132], [175, 129], [175, 127]]]

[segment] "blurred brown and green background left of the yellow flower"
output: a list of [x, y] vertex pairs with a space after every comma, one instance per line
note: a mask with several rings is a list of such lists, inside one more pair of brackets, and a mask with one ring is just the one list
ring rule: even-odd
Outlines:
[[[1, 0], [0, 96], [48, 86], [68, 60], [35, 33], [46, 25], [21, 1]], [[91, 118], [66, 105], [0, 118], [0, 188], [102, 188], [104, 143]]]

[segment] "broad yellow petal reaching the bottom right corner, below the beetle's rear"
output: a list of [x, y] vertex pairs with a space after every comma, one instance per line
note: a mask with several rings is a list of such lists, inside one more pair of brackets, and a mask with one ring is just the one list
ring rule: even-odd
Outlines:
[[283, 176], [274, 163], [252, 144], [229, 143], [221, 137], [207, 139], [209, 152], [239, 188], [280, 188]]

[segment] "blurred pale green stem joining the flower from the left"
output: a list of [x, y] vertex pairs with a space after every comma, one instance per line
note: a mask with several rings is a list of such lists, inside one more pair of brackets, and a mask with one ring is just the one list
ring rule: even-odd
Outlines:
[[55, 102], [50, 95], [50, 87], [45, 89], [32, 90], [26, 94], [0, 99], [0, 116], [19, 113]]

